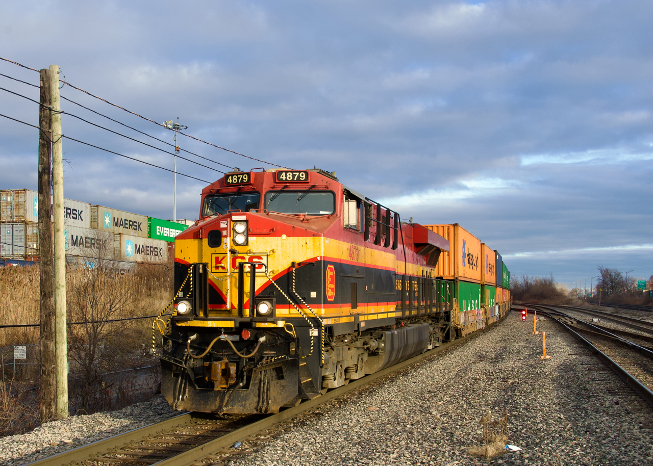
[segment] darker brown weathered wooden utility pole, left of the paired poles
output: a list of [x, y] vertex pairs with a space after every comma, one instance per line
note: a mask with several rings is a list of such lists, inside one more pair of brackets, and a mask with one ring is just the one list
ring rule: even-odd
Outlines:
[[50, 223], [50, 70], [40, 70], [39, 106], [39, 273], [40, 273], [40, 388], [41, 422], [54, 418], [56, 358], [54, 332], [54, 256]]

